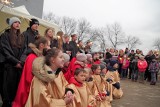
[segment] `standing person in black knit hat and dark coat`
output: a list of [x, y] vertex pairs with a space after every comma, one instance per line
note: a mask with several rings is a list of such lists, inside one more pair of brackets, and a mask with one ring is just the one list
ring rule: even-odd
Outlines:
[[31, 52], [31, 49], [28, 47], [29, 43], [34, 43], [39, 36], [37, 30], [39, 26], [39, 21], [33, 18], [30, 20], [29, 26], [30, 27], [28, 27], [27, 30], [23, 32], [23, 35], [25, 37], [25, 42], [24, 42], [25, 51], [21, 57], [21, 61], [23, 61], [23, 63], [25, 62], [27, 55]]

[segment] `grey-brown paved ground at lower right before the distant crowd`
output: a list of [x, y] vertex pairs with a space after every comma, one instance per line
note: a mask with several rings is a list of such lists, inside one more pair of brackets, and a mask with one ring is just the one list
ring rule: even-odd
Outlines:
[[113, 100], [112, 107], [160, 107], [160, 82], [152, 86], [128, 79], [121, 81], [124, 96]]

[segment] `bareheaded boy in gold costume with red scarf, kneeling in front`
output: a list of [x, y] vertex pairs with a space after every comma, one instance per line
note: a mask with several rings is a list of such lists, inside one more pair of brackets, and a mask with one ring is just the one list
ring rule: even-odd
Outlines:
[[87, 87], [85, 78], [85, 70], [78, 68], [75, 70], [74, 77], [71, 77], [69, 81], [70, 85], [67, 86], [74, 91], [74, 107], [96, 107], [95, 98]]

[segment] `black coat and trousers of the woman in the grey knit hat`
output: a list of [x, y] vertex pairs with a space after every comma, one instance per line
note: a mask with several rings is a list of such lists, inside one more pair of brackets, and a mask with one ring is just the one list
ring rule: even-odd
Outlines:
[[11, 46], [9, 36], [11, 36], [10, 30], [5, 31], [1, 35], [0, 44], [5, 57], [4, 72], [2, 77], [4, 100], [3, 103], [10, 105], [16, 95], [19, 79], [21, 77], [22, 69], [17, 68], [16, 65], [20, 61], [20, 57], [23, 53], [23, 48]]

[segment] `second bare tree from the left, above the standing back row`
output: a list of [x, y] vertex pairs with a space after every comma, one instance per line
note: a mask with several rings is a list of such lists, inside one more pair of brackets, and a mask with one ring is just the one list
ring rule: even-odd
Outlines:
[[77, 22], [73, 18], [63, 17], [61, 20], [61, 28], [65, 34], [71, 35], [75, 33]]

